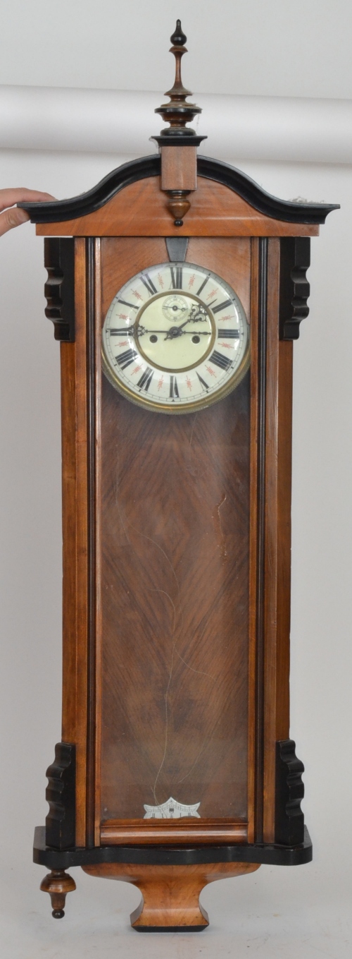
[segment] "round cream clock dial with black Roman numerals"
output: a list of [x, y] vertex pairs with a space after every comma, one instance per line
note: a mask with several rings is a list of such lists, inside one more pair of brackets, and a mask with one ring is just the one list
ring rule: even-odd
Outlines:
[[140, 406], [165, 413], [208, 407], [250, 363], [242, 303], [209, 269], [163, 263], [143, 270], [110, 304], [102, 362], [113, 386]]

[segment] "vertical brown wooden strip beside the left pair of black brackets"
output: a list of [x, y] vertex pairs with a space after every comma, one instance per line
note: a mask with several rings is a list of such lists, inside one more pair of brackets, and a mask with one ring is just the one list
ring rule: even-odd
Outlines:
[[85, 844], [87, 722], [87, 408], [85, 241], [75, 248], [76, 343], [61, 344], [62, 738], [76, 743], [76, 842]]

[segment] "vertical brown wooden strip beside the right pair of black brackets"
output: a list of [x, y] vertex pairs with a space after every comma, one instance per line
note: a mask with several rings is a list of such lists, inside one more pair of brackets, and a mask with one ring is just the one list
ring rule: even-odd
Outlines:
[[264, 841], [275, 838], [275, 742], [289, 737], [293, 343], [278, 339], [279, 241], [268, 260]]

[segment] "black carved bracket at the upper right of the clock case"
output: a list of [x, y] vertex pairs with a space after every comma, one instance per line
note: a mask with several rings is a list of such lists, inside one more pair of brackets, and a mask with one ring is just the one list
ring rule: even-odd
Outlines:
[[310, 243], [309, 237], [280, 240], [280, 339], [298, 339], [300, 320], [309, 314], [310, 287], [305, 273], [311, 262]]

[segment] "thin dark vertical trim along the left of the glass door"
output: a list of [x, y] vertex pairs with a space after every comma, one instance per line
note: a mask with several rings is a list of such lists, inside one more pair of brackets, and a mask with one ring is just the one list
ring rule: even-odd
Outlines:
[[95, 243], [86, 240], [87, 463], [88, 463], [88, 676], [86, 844], [95, 842], [96, 783], [96, 283]]

